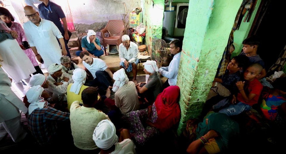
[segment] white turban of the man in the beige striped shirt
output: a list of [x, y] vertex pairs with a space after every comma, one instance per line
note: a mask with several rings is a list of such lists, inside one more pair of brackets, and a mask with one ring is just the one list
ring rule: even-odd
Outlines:
[[125, 74], [125, 69], [121, 68], [120, 70], [117, 70], [113, 74], [113, 79], [115, 80], [113, 84], [112, 91], [116, 92], [120, 87], [122, 87], [125, 83], [129, 81], [127, 75]]

